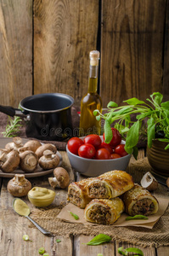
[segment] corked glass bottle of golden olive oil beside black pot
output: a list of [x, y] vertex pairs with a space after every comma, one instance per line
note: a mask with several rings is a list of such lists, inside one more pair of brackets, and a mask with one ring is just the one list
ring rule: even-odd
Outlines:
[[99, 74], [99, 51], [93, 50], [89, 54], [89, 78], [87, 94], [82, 97], [81, 101], [81, 118], [79, 136], [86, 136], [88, 134], [100, 135], [101, 125], [100, 121], [93, 115], [95, 109], [102, 111], [102, 100], [98, 90], [98, 74]]

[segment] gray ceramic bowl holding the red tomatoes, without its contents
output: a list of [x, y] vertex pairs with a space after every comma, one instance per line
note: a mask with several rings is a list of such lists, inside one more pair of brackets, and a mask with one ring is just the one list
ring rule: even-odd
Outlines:
[[[83, 137], [82, 137], [83, 138]], [[125, 144], [121, 141], [121, 144]], [[87, 177], [97, 177], [104, 172], [113, 170], [126, 171], [131, 154], [127, 154], [121, 158], [112, 160], [93, 160], [82, 158], [76, 154], [70, 153], [70, 150], [66, 146], [66, 151], [70, 160], [70, 165], [76, 172], [80, 172]]]

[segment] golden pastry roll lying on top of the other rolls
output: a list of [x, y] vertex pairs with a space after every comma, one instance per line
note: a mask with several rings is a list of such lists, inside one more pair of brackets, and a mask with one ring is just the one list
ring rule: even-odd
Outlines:
[[132, 189], [132, 176], [123, 171], [105, 172], [88, 183], [88, 196], [91, 198], [115, 198]]

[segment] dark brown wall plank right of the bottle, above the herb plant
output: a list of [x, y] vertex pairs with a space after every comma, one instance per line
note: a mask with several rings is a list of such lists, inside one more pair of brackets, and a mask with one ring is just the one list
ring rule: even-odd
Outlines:
[[120, 104], [132, 96], [145, 100], [153, 91], [163, 92], [166, 1], [102, 3], [100, 91], [104, 107], [110, 100]]

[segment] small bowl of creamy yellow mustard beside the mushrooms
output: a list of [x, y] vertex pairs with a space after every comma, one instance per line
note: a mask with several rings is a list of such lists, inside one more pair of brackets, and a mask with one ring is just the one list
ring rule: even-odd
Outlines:
[[34, 187], [28, 192], [28, 199], [36, 207], [48, 207], [54, 201], [55, 192], [51, 189]]

